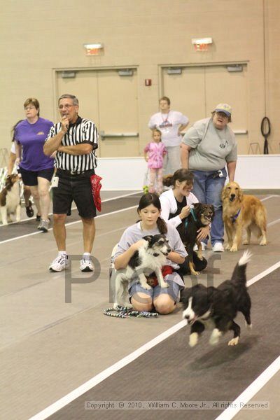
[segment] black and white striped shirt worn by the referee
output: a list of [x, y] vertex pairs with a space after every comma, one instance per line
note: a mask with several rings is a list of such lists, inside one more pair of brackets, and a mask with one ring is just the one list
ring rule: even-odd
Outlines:
[[[61, 123], [52, 125], [48, 133], [48, 139], [55, 137], [61, 130]], [[62, 146], [76, 146], [77, 144], [92, 144], [92, 152], [89, 155], [69, 155], [69, 153], [57, 152], [55, 155], [55, 167], [64, 171], [88, 171], [97, 167], [95, 149], [98, 148], [97, 127], [92, 121], [78, 116], [76, 123], [70, 124], [69, 129], [62, 139]]]

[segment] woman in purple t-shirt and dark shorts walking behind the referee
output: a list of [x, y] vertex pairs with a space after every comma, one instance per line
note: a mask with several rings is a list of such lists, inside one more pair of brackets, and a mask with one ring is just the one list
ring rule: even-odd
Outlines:
[[48, 190], [54, 172], [54, 160], [45, 156], [43, 145], [53, 124], [39, 116], [40, 106], [37, 99], [28, 98], [23, 106], [27, 118], [15, 128], [17, 161], [22, 181], [25, 186], [30, 187], [38, 213], [41, 214], [38, 229], [48, 232]]

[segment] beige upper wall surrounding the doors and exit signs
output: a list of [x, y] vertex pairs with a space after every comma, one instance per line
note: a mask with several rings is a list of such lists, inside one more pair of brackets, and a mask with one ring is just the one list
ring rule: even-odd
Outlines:
[[[158, 111], [160, 66], [247, 62], [249, 141], [260, 141], [262, 150], [266, 107], [270, 153], [280, 153], [279, 0], [13, 0], [1, 9], [0, 147], [9, 147], [27, 97], [37, 97], [41, 116], [56, 120], [54, 69], [137, 66], [139, 155]], [[214, 45], [195, 52], [191, 38], [204, 36]], [[86, 57], [83, 43], [95, 41], [104, 43], [104, 55]]]

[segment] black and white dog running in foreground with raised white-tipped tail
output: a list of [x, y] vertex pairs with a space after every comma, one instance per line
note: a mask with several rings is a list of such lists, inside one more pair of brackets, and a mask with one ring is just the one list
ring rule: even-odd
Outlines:
[[183, 291], [183, 319], [190, 325], [191, 347], [197, 344], [206, 327], [213, 328], [210, 344], [217, 344], [228, 330], [233, 331], [228, 345], [238, 344], [240, 327], [234, 321], [238, 311], [244, 315], [247, 328], [251, 328], [251, 299], [246, 288], [246, 265], [250, 258], [251, 253], [245, 251], [235, 266], [231, 280], [223, 281], [218, 288], [197, 284]]

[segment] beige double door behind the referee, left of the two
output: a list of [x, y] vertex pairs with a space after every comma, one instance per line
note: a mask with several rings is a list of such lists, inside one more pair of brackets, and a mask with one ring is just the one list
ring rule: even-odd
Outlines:
[[[74, 77], [65, 77], [69, 73]], [[69, 73], [57, 71], [57, 96], [78, 97], [80, 116], [93, 120], [99, 130], [99, 157], [138, 156], [137, 70]]]

